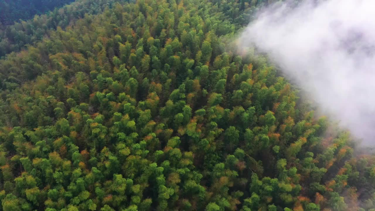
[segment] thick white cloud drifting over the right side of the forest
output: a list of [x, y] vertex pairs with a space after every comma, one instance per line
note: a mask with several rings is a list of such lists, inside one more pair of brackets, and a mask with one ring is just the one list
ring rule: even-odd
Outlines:
[[270, 6], [241, 45], [268, 53], [325, 113], [374, 145], [375, 0], [319, 2]]

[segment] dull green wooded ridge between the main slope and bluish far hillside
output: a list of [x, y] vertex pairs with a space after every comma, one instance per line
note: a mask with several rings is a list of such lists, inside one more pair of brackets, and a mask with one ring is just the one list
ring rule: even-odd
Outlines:
[[13, 25], [0, 27], [0, 57], [20, 51], [27, 44], [35, 44], [44, 37], [48, 37], [49, 33], [56, 30], [57, 27], [65, 29], [85, 15], [100, 14], [106, 8], [112, 8], [112, 5], [117, 2], [125, 3], [126, 1], [77, 0], [45, 15], [36, 15], [31, 20], [23, 20]]

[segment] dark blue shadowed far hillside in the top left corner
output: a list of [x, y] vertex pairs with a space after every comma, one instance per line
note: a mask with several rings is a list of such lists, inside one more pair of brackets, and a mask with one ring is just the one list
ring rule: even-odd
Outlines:
[[2, 0], [0, 1], [0, 23], [12, 24], [19, 19], [28, 19], [43, 14], [73, 0]]

